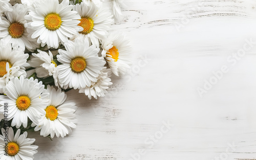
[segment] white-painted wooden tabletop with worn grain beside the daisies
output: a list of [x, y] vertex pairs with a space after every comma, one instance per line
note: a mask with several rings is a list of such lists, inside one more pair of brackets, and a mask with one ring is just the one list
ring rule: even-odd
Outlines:
[[35, 159], [256, 159], [256, 1], [126, 1], [132, 72], [106, 98], [68, 92], [77, 129], [29, 134]]

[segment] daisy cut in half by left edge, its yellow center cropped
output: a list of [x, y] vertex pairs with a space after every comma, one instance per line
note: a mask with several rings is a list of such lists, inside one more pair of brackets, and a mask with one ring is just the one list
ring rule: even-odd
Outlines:
[[0, 93], [3, 93], [3, 88], [14, 77], [21, 75], [26, 76], [25, 67], [29, 55], [24, 54], [22, 48], [12, 48], [10, 43], [0, 41]]

